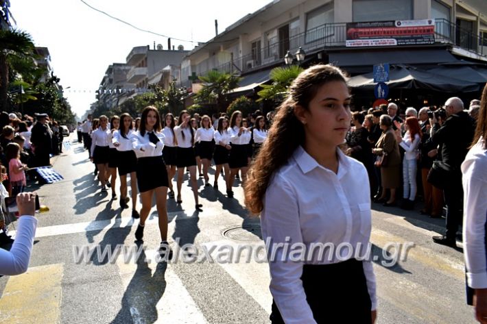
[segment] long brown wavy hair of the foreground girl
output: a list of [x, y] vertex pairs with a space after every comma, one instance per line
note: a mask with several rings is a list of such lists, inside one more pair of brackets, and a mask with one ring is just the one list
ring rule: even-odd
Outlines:
[[283, 166], [299, 145], [305, 143], [305, 128], [294, 110], [296, 105], [309, 110], [309, 102], [328, 82], [344, 82], [344, 73], [335, 66], [318, 64], [307, 68], [289, 87], [287, 99], [277, 108], [268, 138], [263, 142], [248, 171], [244, 185], [245, 204], [254, 215], [263, 210], [263, 198], [275, 171]]

